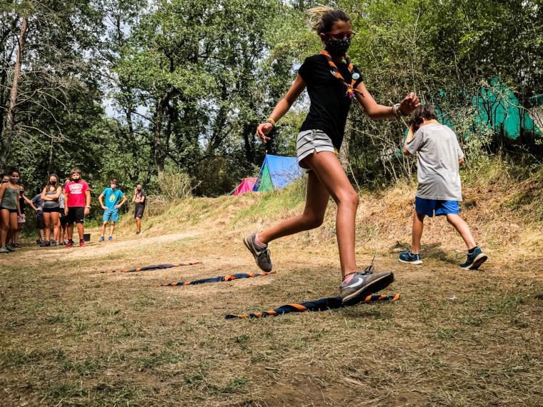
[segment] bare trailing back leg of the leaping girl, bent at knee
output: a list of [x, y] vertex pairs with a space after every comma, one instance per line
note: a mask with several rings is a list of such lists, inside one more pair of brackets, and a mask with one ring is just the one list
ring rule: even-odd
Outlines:
[[300, 231], [308, 231], [322, 225], [330, 195], [314, 171], [310, 171], [308, 175], [306, 205], [302, 215], [288, 218], [286, 221], [259, 233], [259, 240], [262, 243], [269, 243], [277, 238]]

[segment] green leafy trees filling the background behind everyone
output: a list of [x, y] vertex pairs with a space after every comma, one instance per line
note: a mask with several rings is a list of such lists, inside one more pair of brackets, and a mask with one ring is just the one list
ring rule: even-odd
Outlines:
[[[502, 79], [519, 109], [543, 93], [541, 0], [338, 0], [357, 33], [349, 51], [379, 104], [409, 91], [447, 114], [469, 165], [507, 150], [532, 165], [538, 139], [517, 145], [474, 123], [482, 84]], [[183, 173], [194, 194], [218, 196], [254, 174], [266, 151], [295, 154], [307, 113], [302, 96], [263, 146], [256, 126], [322, 44], [295, 0], [34, 0], [0, 4], [1, 163], [21, 169], [30, 195], [49, 172], [84, 171], [91, 186], [115, 176], [159, 191], [162, 172]], [[29, 19], [14, 138], [6, 112], [17, 35]], [[106, 106], [104, 108], [104, 106]], [[342, 160], [359, 186], [411, 177], [404, 121], [370, 120], [353, 106]], [[539, 140], [540, 141], [540, 140]], [[522, 148], [519, 144], [522, 143]], [[176, 195], [176, 193], [174, 193]]]

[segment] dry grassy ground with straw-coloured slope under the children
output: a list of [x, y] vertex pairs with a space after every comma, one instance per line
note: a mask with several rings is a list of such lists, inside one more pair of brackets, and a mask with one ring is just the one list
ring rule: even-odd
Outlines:
[[[84, 249], [28, 243], [0, 258], [0, 404], [541, 406], [543, 236], [533, 185], [494, 180], [465, 191], [464, 217], [491, 256], [471, 272], [456, 267], [464, 247], [443, 219], [427, 224], [423, 266], [397, 262], [413, 189], [362, 196], [359, 263], [376, 256], [377, 269], [392, 269], [385, 292], [402, 299], [322, 313], [224, 320], [337, 295], [333, 205], [322, 228], [272, 244], [273, 276], [154, 286], [256, 271], [241, 236], [297, 213], [301, 186], [156, 210], [141, 236], [127, 218], [115, 241], [99, 244], [93, 230]], [[202, 263], [100, 273], [189, 260]]]

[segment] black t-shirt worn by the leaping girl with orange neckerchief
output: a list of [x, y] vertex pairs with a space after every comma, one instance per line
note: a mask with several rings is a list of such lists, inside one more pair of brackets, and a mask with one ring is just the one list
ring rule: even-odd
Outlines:
[[[342, 62], [336, 66], [347, 84], [350, 84], [352, 76], [347, 64]], [[364, 79], [356, 66], [353, 71], [360, 75], [354, 84], [354, 88], [356, 88]], [[347, 115], [352, 102], [352, 99], [347, 95], [347, 86], [332, 74], [326, 56], [321, 54], [308, 56], [304, 64], [300, 66], [298, 74], [304, 79], [309, 100], [311, 100], [309, 113], [300, 131], [324, 131], [332, 139], [334, 147], [339, 150], [339, 147], [342, 146]]]

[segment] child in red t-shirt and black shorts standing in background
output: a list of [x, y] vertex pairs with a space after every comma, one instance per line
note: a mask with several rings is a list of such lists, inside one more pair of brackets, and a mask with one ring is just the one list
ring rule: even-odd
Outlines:
[[68, 222], [68, 243], [66, 248], [74, 247], [74, 223], [79, 233], [79, 246], [85, 247], [84, 221], [85, 216], [91, 211], [91, 189], [89, 184], [81, 179], [81, 171], [73, 169], [70, 171], [70, 179], [64, 188], [64, 214]]

